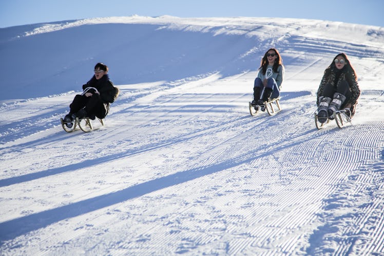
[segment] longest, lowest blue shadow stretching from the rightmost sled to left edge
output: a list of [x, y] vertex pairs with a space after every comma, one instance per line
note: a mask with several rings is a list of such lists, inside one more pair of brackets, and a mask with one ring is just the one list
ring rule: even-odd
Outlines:
[[[308, 136], [310, 133], [313, 133], [313, 136]], [[302, 134], [296, 135], [296, 138], [302, 137], [302, 139], [298, 139], [293, 143], [288, 142], [286, 145], [281, 145], [280, 147], [274, 146], [272, 147], [273, 150], [268, 150], [268, 147], [271, 146], [264, 146], [265, 148], [262, 149], [266, 151], [264, 153], [259, 153], [260, 150], [258, 150], [257, 153], [259, 154], [252, 156], [252, 154], [246, 152], [240, 156], [225, 160], [220, 163], [212, 164], [207, 167], [192, 168], [190, 170], [170, 174], [165, 177], [149, 180], [143, 182], [142, 184], [135, 185], [117, 192], [96, 196], [70, 205], [57, 207], [55, 209], [46, 210], [43, 212], [33, 213], [28, 216], [19, 217], [14, 220], [0, 223], [0, 244], [4, 244], [4, 242], [7, 240], [13, 240], [17, 236], [26, 234], [33, 230], [44, 228], [48, 225], [65, 220], [67, 218], [76, 217], [115, 204], [123, 203], [127, 200], [137, 198], [154, 191], [176, 186], [206, 175], [252, 162], [255, 159], [266, 157], [275, 152], [280, 152], [284, 149], [295, 147], [295, 145], [303, 143], [304, 141], [311, 140], [312, 137], [316, 136], [317, 135], [313, 132], [313, 130], [306, 131]]]

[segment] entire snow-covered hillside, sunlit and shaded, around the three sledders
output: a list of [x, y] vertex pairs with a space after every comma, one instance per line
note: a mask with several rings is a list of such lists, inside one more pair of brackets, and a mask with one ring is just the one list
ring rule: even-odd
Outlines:
[[[384, 30], [266, 17], [109, 17], [0, 29], [2, 255], [384, 254]], [[264, 52], [283, 110], [252, 117]], [[352, 125], [315, 127], [348, 54]], [[65, 133], [104, 62], [106, 125]]]

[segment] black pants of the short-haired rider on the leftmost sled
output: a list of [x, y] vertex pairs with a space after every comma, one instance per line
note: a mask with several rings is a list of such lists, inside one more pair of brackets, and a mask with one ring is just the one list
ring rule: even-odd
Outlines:
[[85, 95], [76, 95], [72, 103], [69, 105], [69, 108], [70, 114], [74, 114], [84, 108], [89, 117], [97, 116], [100, 119], [105, 118], [108, 114], [108, 109], [98, 94], [93, 94], [90, 97], [86, 97]]

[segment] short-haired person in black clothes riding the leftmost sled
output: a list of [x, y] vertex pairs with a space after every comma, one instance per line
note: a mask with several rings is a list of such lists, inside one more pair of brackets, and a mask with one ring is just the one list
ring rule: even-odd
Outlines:
[[83, 85], [83, 93], [74, 97], [64, 122], [71, 122], [76, 117], [91, 119], [106, 117], [109, 104], [119, 95], [119, 89], [109, 80], [107, 72], [108, 67], [103, 63], [94, 66], [94, 76]]

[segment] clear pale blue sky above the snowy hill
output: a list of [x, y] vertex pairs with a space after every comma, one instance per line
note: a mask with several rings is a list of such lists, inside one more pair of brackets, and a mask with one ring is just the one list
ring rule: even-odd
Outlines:
[[107, 16], [292, 17], [384, 26], [382, 0], [0, 0], [0, 28]]

